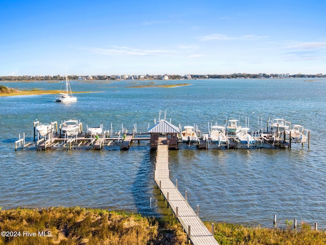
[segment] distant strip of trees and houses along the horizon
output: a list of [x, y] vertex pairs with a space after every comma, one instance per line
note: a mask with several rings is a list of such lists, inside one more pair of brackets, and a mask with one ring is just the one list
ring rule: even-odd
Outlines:
[[[132, 76], [133, 77], [133, 76]], [[185, 78], [185, 76], [180, 75], [168, 75], [169, 79], [179, 80]], [[284, 74], [229, 74], [229, 75], [191, 75], [192, 79], [234, 79], [234, 78], [284, 78]], [[294, 74], [287, 75], [286, 78], [326, 78], [326, 75], [316, 74], [316, 75], [305, 75], [305, 74]], [[146, 75], [144, 79], [155, 80], [159, 79], [160, 76], [157, 75]], [[0, 81], [57, 81], [64, 80], [65, 77], [60, 75], [56, 76], [3, 76], [0, 77]], [[68, 76], [69, 80], [88, 80], [88, 76]], [[98, 75], [92, 76], [91, 80], [116, 80], [117, 76], [106, 76]]]

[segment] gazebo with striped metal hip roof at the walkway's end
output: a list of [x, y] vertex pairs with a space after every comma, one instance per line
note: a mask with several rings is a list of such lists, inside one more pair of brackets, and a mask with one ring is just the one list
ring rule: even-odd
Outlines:
[[160, 120], [158, 124], [148, 130], [148, 133], [151, 134], [151, 150], [156, 150], [159, 142], [167, 144], [170, 149], [178, 150], [178, 134], [180, 130], [170, 122]]

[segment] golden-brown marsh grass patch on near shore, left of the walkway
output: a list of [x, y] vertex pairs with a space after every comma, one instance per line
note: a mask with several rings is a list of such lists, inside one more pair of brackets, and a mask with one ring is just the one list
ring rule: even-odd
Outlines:
[[[185, 244], [172, 216], [142, 217], [122, 211], [85, 208], [0, 211], [0, 244]], [[34, 235], [35, 234], [35, 235]], [[16, 235], [16, 236], [14, 236]]]

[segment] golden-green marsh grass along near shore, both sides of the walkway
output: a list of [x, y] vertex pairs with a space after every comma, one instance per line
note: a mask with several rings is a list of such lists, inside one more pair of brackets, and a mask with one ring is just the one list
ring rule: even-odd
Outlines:
[[[204, 222], [210, 230], [211, 222]], [[244, 227], [215, 223], [220, 245], [326, 244], [326, 232], [303, 223], [296, 230]], [[187, 244], [186, 234], [172, 215], [164, 218], [104, 209], [0, 209], [0, 244]], [[5, 232], [5, 233], [3, 233]], [[11, 232], [11, 233], [10, 233]], [[14, 236], [16, 235], [16, 236]]]

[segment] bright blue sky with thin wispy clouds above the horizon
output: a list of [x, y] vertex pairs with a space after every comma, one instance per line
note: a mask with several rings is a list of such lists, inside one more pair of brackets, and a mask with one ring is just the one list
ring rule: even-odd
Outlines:
[[0, 76], [326, 74], [325, 3], [0, 0]]

